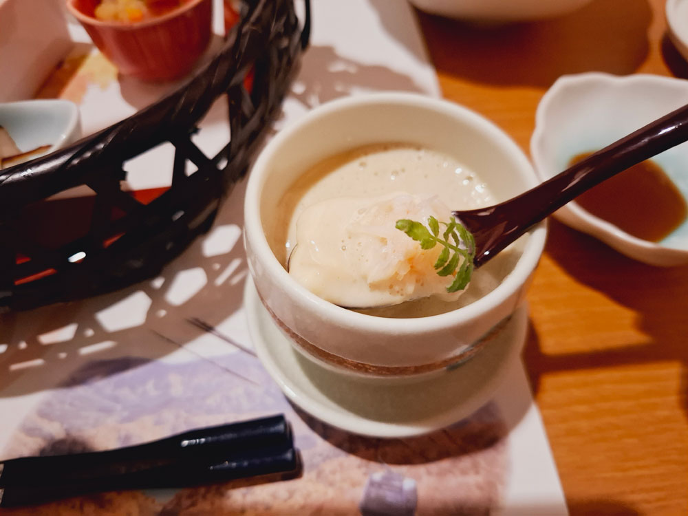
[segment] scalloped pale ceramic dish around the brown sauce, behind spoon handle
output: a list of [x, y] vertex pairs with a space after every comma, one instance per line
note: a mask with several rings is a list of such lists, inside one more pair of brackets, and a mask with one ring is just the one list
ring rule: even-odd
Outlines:
[[[574, 156], [599, 150], [687, 103], [687, 80], [645, 74], [563, 76], [537, 107], [530, 140], [535, 171], [547, 180], [566, 169]], [[688, 144], [653, 160], [688, 198]], [[688, 222], [656, 244], [625, 233], [576, 202], [560, 208], [555, 217], [646, 264], [688, 264]]]

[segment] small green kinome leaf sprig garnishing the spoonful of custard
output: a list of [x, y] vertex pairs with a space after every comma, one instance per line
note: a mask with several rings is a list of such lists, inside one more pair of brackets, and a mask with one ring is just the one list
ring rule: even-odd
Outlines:
[[[447, 226], [440, 235], [440, 224]], [[475, 258], [475, 239], [473, 235], [456, 219], [449, 222], [438, 222], [435, 217], [428, 217], [428, 225], [409, 219], [400, 219], [396, 222], [396, 228], [402, 230], [413, 240], [420, 243], [422, 249], [432, 249], [437, 244], [442, 246], [442, 251], [435, 262], [435, 269], [439, 276], [454, 275], [454, 281], [447, 292], [464, 290], [471, 281], [473, 275], [473, 258]], [[453, 243], [452, 243], [453, 240]], [[465, 248], [461, 247], [464, 246]], [[461, 260], [463, 258], [463, 260]], [[459, 267], [459, 262], [461, 266]], [[456, 270], [456, 268], [459, 270]]]

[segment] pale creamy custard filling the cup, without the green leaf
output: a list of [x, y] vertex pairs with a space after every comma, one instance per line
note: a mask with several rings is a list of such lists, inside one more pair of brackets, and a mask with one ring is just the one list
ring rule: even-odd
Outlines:
[[493, 290], [513, 268], [519, 246], [477, 270], [465, 288], [447, 292], [463, 258], [452, 275], [438, 275], [442, 246], [423, 249], [396, 223], [413, 219], [431, 227], [433, 218], [441, 237], [452, 210], [495, 202], [480, 175], [447, 153], [373, 144], [304, 171], [279, 201], [277, 213], [286, 216], [268, 224], [266, 236], [290, 275], [322, 299], [377, 316], [429, 316]]

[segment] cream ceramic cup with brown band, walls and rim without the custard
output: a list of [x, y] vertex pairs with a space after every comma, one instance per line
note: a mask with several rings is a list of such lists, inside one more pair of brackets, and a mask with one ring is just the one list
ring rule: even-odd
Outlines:
[[313, 109], [261, 152], [246, 189], [244, 244], [261, 301], [305, 356], [361, 376], [424, 376], [472, 356], [480, 347], [477, 343], [488, 341], [485, 337], [513, 314], [537, 266], [546, 226], [539, 224], [524, 235], [517, 242], [522, 255], [504, 281], [464, 308], [387, 319], [323, 301], [280, 264], [264, 222], [288, 216], [277, 213], [278, 201], [310, 166], [348, 149], [383, 142], [449, 153], [479, 173], [500, 200], [538, 182], [517, 144], [469, 109], [418, 94], [352, 96]]

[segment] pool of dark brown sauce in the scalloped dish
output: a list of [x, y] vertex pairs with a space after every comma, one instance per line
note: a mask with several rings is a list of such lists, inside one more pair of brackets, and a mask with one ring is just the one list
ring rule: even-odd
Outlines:
[[[570, 165], [592, 153], [575, 156]], [[660, 241], [688, 215], [685, 197], [652, 160], [645, 160], [576, 197], [592, 215], [611, 222], [629, 235]]]

